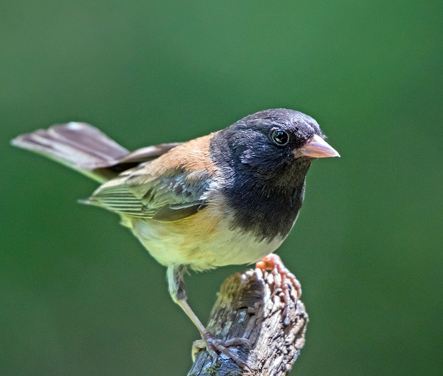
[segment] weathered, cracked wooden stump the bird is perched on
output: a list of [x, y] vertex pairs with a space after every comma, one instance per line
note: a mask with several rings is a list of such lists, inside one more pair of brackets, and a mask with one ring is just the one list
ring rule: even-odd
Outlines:
[[[308, 314], [291, 290], [291, 303], [285, 319], [282, 294], [273, 294], [273, 276], [261, 269], [234, 274], [221, 285], [207, 329], [216, 338], [247, 338], [252, 347], [233, 346], [256, 376], [283, 376], [290, 371], [305, 343]], [[188, 376], [246, 376], [249, 373], [224, 355], [212, 365], [207, 351], [200, 351]], [[249, 374], [251, 375], [251, 374]]]

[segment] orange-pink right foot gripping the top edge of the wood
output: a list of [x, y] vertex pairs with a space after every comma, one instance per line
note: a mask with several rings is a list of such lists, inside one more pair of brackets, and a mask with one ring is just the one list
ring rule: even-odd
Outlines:
[[284, 301], [285, 301], [285, 309], [283, 315], [285, 316], [285, 325], [289, 325], [289, 318], [287, 317], [288, 306], [291, 304], [291, 295], [290, 290], [291, 286], [294, 286], [297, 291], [297, 299], [301, 297], [301, 284], [295, 278], [295, 276], [285, 267], [282, 259], [276, 255], [275, 253], [270, 253], [266, 257], [264, 257], [261, 261], [258, 261], [255, 264], [255, 267], [262, 270], [270, 270], [274, 277], [274, 291], [273, 295], [278, 293], [283, 293]]

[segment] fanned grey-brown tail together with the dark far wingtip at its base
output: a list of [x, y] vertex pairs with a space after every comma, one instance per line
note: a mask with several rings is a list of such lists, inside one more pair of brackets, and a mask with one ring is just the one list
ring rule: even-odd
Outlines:
[[54, 159], [104, 183], [128, 168], [158, 158], [181, 143], [148, 146], [129, 153], [92, 125], [67, 123], [22, 134], [11, 144]]

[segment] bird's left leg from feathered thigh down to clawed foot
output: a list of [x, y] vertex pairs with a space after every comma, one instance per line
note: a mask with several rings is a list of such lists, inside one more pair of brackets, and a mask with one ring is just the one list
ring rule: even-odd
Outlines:
[[201, 340], [195, 341], [192, 345], [192, 360], [195, 361], [195, 355], [198, 351], [206, 348], [212, 356], [213, 364], [217, 361], [219, 353], [222, 353], [236, 362], [240, 368], [246, 369], [253, 373], [253, 370], [242, 359], [240, 359], [238, 355], [228, 348], [229, 346], [242, 344], [251, 346], [249, 340], [246, 338], [232, 338], [230, 340], [223, 341], [215, 338], [214, 335], [204, 327], [195, 313], [192, 312], [186, 301], [186, 292], [183, 283], [183, 273], [185, 270], [186, 267], [183, 265], [170, 265], [168, 266], [167, 277], [169, 293], [171, 294], [172, 299], [182, 308], [183, 311], [185, 311], [185, 313], [197, 327], [202, 338]]

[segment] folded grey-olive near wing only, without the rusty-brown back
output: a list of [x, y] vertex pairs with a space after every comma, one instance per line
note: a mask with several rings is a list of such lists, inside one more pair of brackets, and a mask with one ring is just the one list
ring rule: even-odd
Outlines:
[[202, 195], [213, 181], [207, 170], [173, 168], [157, 176], [146, 172], [149, 163], [123, 172], [83, 202], [159, 221], [184, 219], [206, 207]]

